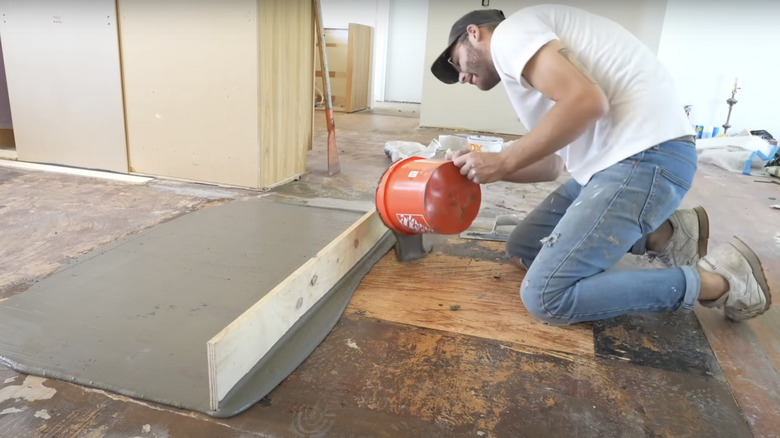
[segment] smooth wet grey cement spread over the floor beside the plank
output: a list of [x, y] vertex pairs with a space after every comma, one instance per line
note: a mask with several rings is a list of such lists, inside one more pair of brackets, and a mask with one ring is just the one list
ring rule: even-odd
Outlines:
[[208, 340], [360, 216], [245, 199], [98, 248], [0, 303], [0, 357], [25, 373], [208, 412]]

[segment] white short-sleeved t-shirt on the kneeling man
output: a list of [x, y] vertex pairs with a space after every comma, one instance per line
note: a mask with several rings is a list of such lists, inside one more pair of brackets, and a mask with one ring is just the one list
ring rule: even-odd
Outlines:
[[658, 143], [693, 135], [671, 75], [657, 57], [617, 23], [582, 9], [532, 6], [512, 14], [493, 33], [496, 70], [520, 120], [533, 129], [554, 102], [521, 74], [546, 43], [560, 40], [606, 94], [610, 109], [558, 151], [580, 184], [596, 172]]

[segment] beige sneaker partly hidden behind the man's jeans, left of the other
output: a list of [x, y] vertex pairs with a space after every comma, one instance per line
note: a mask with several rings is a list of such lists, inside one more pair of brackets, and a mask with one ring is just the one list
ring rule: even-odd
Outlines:
[[677, 210], [669, 218], [672, 237], [660, 253], [648, 251], [651, 259], [657, 258], [668, 268], [693, 266], [707, 255], [710, 237], [710, 221], [704, 207]]

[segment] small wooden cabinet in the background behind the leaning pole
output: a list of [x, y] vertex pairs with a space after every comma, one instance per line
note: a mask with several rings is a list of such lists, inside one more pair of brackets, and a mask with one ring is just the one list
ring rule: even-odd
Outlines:
[[[325, 29], [333, 109], [354, 112], [369, 107], [372, 28], [350, 23], [348, 29]], [[316, 75], [322, 77], [319, 58]], [[315, 86], [322, 90], [321, 79]]]

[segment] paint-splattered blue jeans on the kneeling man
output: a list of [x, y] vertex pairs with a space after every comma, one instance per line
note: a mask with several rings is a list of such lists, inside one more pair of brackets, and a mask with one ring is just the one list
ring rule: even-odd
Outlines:
[[597, 173], [569, 180], [512, 232], [507, 253], [528, 267], [521, 296], [528, 311], [553, 325], [639, 312], [693, 308], [701, 279], [695, 266], [608, 270], [627, 252], [644, 254], [647, 234], [663, 224], [696, 172], [692, 143], [656, 145]]

